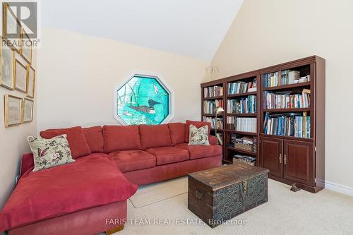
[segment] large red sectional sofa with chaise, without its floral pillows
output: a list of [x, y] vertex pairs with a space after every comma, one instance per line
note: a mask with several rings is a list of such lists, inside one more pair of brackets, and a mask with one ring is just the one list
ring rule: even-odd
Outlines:
[[[158, 126], [94, 126], [42, 131], [66, 134], [76, 162], [33, 172], [23, 155], [20, 179], [0, 213], [8, 234], [99, 234], [124, 227], [126, 200], [138, 185], [219, 167], [222, 147], [188, 145], [187, 121]], [[108, 220], [107, 220], [108, 219]]]

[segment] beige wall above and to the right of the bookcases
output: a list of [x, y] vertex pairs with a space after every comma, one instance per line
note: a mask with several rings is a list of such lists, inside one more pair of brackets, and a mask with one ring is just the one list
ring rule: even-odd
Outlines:
[[325, 180], [331, 188], [353, 188], [352, 9], [350, 0], [245, 0], [211, 63], [223, 78], [313, 54], [326, 59]]

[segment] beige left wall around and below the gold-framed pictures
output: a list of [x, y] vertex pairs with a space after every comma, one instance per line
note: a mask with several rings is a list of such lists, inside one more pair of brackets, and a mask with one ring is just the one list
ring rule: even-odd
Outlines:
[[[16, 55], [23, 64], [24, 59], [20, 55]], [[36, 64], [35, 51], [33, 53], [32, 66]], [[37, 79], [38, 78], [37, 76]], [[37, 88], [36, 88], [37, 89]], [[8, 90], [0, 86], [0, 209], [12, 193], [16, 182], [16, 176], [20, 169], [20, 159], [22, 154], [30, 152], [30, 147], [27, 143], [28, 135], [35, 135], [37, 132], [37, 102], [35, 95], [34, 116], [30, 123], [23, 123], [19, 126], [4, 127], [4, 100], [5, 95], [15, 95], [24, 98], [25, 93], [17, 90]]]

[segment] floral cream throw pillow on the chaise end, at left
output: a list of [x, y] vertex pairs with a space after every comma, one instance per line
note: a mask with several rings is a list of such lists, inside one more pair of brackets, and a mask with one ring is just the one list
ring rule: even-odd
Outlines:
[[33, 171], [75, 162], [71, 156], [66, 135], [58, 135], [51, 139], [28, 136], [28, 143], [35, 162]]

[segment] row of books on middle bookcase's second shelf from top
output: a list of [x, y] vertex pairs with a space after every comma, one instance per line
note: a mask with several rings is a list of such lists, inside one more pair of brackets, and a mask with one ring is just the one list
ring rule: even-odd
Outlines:
[[227, 100], [227, 112], [232, 114], [254, 114], [257, 110], [256, 95]]

